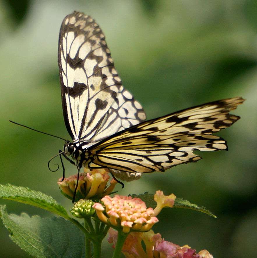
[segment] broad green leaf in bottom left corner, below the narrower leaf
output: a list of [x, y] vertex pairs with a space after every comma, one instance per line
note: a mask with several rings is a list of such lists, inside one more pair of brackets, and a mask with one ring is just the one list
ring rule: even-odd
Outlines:
[[39, 258], [85, 257], [85, 235], [81, 230], [61, 217], [30, 217], [8, 214], [6, 205], [0, 206], [3, 224], [10, 238], [24, 251]]

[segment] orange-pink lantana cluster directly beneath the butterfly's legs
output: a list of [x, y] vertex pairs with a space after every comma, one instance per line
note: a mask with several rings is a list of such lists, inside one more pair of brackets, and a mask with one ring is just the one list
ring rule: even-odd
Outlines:
[[[113, 178], [110, 181], [110, 186], [107, 187], [110, 176], [108, 171], [105, 169], [84, 169], [83, 173], [80, 173], [78, 178], [78, 188], [76, 191], [76, 199], [90, 199], [93, 196], [98, 196], [101, 198], [105, 195], [110, 194], [117, 181]], [[61, 193], [69, 199], [73, 198], [75, 187], [77, 184], [77, 175], [71, 175], [67, 178], [59, 179], [57, 184], [61, 190]]]

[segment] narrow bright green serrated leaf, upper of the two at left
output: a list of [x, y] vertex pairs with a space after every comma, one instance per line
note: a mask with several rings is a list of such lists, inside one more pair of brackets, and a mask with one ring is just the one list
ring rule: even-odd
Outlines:
[[0, 197], [39, 207], [64, 218], [70, 219], [64, 207], [57, 203], [52, 196], [46, 195], [39, 191], [33, 191], [29, 188], [21, 186], [13, 186], [11, 184], [0, 184]]

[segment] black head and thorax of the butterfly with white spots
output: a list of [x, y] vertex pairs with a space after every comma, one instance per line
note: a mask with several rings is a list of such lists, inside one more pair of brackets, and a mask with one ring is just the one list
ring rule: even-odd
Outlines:
[[82, 146], [78, 143], [71, 143], [70, 141], [66, 141], [64, 144], [64, 154], [67, 157], [71, 156], [78, 168], [85, 166], [85, 163], [89, 161], [89, 152], [87, 149], [83, 149]]

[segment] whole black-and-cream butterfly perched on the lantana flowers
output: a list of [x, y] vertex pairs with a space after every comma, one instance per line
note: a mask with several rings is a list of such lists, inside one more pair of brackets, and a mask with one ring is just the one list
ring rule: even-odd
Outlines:
[[240, 117], [229, 114], [244, 99], [228, 98], [145, 121], [145, 112], [124, 89], [105, 36], [82, 12], [64, 18], [58, 48], [61, 100], [66, 128], [73, 139], [63, 154], [80, 168], [105, 168], [125, 181], [143, 173], [201, 159], [195, 150], [227, 150], [212, 135]]

